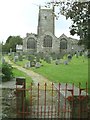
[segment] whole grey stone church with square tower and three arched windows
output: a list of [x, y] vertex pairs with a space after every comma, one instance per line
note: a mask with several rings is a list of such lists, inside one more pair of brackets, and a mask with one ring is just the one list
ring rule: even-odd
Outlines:
[[78, 40], [62, 34], [55, 36], [54, 9], [39, 7], [37, 34], [27, 33], [23, 39], [23, 51], [60, 53], [81, 50]]

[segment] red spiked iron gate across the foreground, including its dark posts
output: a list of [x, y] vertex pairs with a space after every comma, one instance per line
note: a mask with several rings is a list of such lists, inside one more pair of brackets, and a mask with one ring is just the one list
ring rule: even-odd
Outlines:
[[[88, 118], [88, 91], [74, 84], [31, 84], [16, 83], [18, 118]], [[20, 84], [21, 85], [21, 84]]]

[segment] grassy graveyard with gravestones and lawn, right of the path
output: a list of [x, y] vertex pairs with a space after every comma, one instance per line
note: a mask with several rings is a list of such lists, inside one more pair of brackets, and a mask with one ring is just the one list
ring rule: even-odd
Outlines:
[[[9, 58], [11, 59], [11, 56], [9, 56]], [[30, 60], [28, 60], [27, 57], [22, 56], [22, 58], [22, 60], [19, 60], [19, 58], [16, 61], [14, 61], [14, 58], [11, 60], [18, 66], [43, 75], [51, 82], [75, 83], [76, 86], [78, 86], [80, 82], [82, 87], [84, 87], [86, 81], [88, 81], [88, 58], [83, 55], [78, 56], [78, 58], [74, 55], [71, 60], [68, 60], [67, 55], [62, 59], [52, 59], [49, 57], [46, 60], [39, 58], [38, 61], [36, 61], [36, 57], [34, 57], [35, 59], [33, 58], [32, 61], [36, 61], [36, 65], [38, 66], [31, 66]], [[66, 64], [65, 62], [68, 63]]]

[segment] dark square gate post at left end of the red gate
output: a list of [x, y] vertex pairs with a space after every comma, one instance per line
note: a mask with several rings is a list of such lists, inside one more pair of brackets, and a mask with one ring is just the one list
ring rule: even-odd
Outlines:
[[16, 78], [16, 108], [18, 117], [24, 118], [25, 98], [26, 98], [26, 79], [24, 77]]

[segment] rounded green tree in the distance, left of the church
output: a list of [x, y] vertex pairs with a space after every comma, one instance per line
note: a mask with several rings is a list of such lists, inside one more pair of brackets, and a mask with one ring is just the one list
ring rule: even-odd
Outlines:
[[12, 51], [16, 51], [16, 45], [20, 44], [22, 45], [22, 38], [20, 36], [9, 36], [6, 40], [5, 45], [2, 46], [3, 52], [9, 52], [10, 48], [12, 48]]

